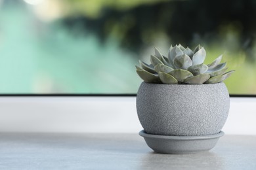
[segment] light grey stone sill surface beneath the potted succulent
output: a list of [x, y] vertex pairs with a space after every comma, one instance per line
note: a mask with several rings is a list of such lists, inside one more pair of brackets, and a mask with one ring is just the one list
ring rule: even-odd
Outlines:
[[256, 136], [209, 152], [156, 154], [138, 134], [0, 133], [0, 169], [256, 169]]

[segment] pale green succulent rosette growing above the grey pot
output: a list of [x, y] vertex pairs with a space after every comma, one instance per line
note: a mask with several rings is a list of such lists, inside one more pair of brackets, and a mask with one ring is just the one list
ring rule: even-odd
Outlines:
[[198, 45], [194, 51], [181, 44], [171, 46], [167, 57], [155, 48], [155, 55], [150, 56], [150, 64], [139, 61], [137, 73], [149, 83], [163, 84], [213, 84], [228, 78], [234, 70], [226, 72], [226, 63], [221, 63], [223, 55], [206, 65], [205, 49]]

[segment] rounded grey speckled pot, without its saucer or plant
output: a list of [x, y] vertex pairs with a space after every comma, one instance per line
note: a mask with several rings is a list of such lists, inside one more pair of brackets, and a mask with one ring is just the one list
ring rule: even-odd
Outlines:
[[144, 131], [154, 135], [198, 136], [221, 131], [229, 94], [217, 84], [152, 84], [142, 82], [137, 113]]

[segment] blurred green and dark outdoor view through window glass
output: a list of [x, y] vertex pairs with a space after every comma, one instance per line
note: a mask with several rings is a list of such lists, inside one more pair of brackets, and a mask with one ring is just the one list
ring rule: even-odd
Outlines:
[[138, 60], [181, 43], [256, 94], [255, 18], [254, 0], [0, 0], [0, 93], [137, 93]]

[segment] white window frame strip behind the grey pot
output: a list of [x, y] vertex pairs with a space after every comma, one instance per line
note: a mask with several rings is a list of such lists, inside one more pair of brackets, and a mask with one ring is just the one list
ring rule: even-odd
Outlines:
[[[256, 135], [256, 97], [230, 97], [226, 134]], [[0, 97], [1, 132], [138, 133], [136, 97]]]

